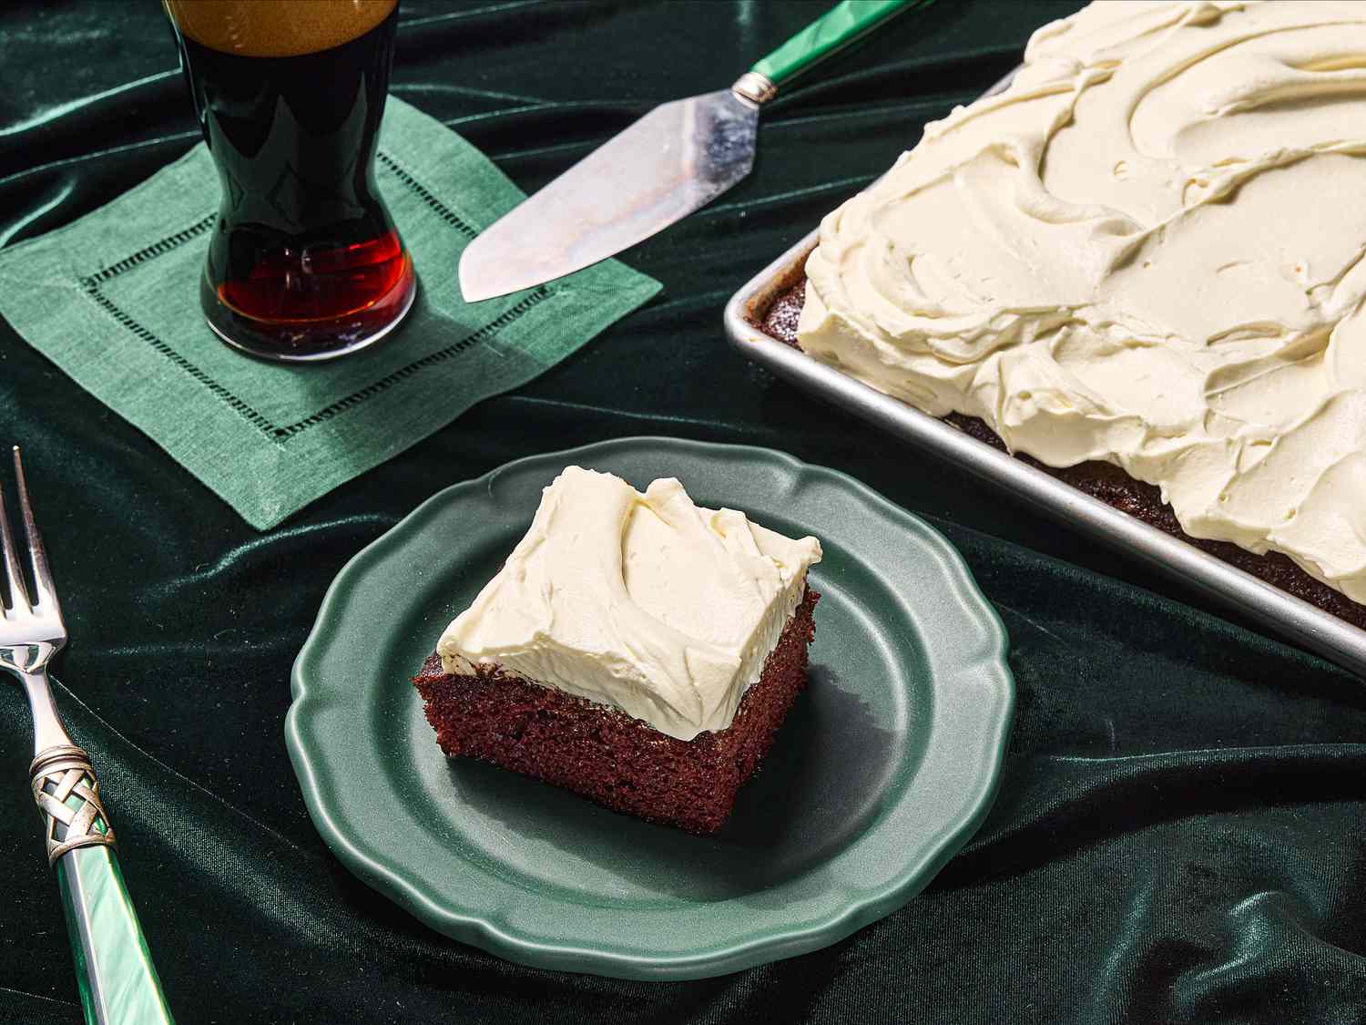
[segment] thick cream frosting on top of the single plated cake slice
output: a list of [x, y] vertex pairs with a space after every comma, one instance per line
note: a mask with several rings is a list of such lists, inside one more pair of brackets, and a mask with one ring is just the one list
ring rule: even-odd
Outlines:
[[570, 466], [531, 529], [437, 644], [447, 672], [499, 666], [691, 741], [724, 730], [821, 560], [676, 480], [638, 492]]

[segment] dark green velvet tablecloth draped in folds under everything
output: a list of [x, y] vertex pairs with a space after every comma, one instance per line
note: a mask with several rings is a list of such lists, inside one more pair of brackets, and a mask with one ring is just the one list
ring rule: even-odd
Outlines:
[[[393, 89], [535, 189], [824, 5], [404, 0]], [[765, 111], [747, 182], [626, 254], [664, 283], [652, 305], [269, 534], [0, 324], [0, 440], [26, 446], [74, 637], [59, 701], [180, 1022], [1366, 1020], [1366, 686], [721, 338], [739, 283], [1072, 7], [940, 0], [822, 67]], [[153, 0], [0, 8], [0, 241], [195, 138]], [[357, 549], [452, 481], [635, 433], [775, 446], [925, 515], [996, 603], [1019, 683], [996, 809], [922, 897], [701, 983], [531, 972], [429, 932], [326, 851], [281, 738], [290, 663]], [[0, 738], [0, 1021], [76, 1022], [15, 687]]]

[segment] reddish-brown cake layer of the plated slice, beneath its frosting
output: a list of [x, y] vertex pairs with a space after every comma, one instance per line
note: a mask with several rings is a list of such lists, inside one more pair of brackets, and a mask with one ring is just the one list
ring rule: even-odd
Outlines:
[[445, 674], [441, 659], [430, 655], [413, 683], [437, 743], [451, 757], [492, 761], [649, 821], [714, 832], [806, 687], [818, 599], [806, 589], [731, 726], [691, 741], [497, 667]]

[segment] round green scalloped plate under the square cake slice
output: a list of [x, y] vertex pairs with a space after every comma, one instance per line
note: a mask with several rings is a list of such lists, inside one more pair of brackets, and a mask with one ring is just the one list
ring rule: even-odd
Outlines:
[[[825, 548], [810, 689], [713, 836], [448, 761], [408, 685], [568, 463], [673, 476]], [[540, 968], [699, 979], [915, 895], [985, 817], [1012, 704], [1000, 620], [923, 522], [780, 452], [637, 437], [447, 488], [357, 555], [294, 666], [285, 739], [336, 856], [432, 928]]]

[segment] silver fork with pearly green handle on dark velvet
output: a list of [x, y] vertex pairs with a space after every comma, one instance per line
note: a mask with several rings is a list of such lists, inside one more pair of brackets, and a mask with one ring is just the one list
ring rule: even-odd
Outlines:
[[67, 625], [33, 519], [18, 446], [14, 476], [33, 589], [30, 593], [23, 578], [0, 488], [0, 667], [19, 678], [33, 711], [34, 757], [29, 775], [48, 840], [48, 864], [56, 866], [61, 888], [81, 1004], [92, 1025], [169, 1025], [161, 981], [119, 871], [113, 828], [100, 802], [100, 782], [90, 756], [61, 724], [48, 685], [48, 663], [66, 646]]

